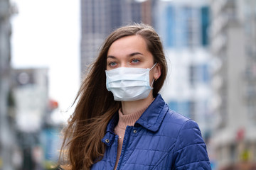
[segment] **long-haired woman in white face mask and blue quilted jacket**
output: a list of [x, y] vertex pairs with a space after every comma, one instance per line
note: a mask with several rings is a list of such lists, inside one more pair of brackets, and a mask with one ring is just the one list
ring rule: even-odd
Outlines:
[[166, 72], [153, 28], [114, 30], [64, 130], [63, 169], [210, 169], [198, 125], [158, 94]]

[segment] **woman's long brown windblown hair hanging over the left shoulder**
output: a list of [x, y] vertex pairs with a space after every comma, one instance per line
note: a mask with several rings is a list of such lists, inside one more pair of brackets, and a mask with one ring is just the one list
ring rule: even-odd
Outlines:
[[114, 101], [112, 93], [106, 89], [107, 52], [115, 40], [129, 35], [142, 36], [154, 62], [161, 65], [161, 77], [154, 81], [153, 96], [158, 94], [164, 84], [167, 74], [166, 59], [155, 30], [143, 23], [114, 30], [105, 40], [100, 55], [82, 82], [75, 98], [78, 101], [75, 111], [68, 120], [67, 127], [63, 129], [63, 145], [60, 149], [60, 164], [63, 169], [90, 169], [105, 152], [105, 144], [101, 140], [107, 123], [121, 107], [121, 103]]

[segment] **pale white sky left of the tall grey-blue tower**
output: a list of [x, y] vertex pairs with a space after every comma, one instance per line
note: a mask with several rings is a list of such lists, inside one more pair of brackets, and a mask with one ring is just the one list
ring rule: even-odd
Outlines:
[[80, 1], [13, 0], [14, 68], [49, 69], [49, 96], [61, 110], [72, 104], [80, 84]]

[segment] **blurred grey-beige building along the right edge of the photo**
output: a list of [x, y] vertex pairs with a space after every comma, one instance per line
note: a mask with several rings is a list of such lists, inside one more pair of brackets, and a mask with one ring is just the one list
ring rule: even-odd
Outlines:
[[256, 1], [212, 0], [210, 6], [218, 169], [256, 169]]

